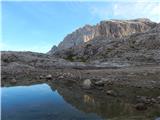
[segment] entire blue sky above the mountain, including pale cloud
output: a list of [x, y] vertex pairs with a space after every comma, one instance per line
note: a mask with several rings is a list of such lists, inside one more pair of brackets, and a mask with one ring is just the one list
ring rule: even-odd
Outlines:
[[1, 50], [45, 53], [85, 24], [146, 17], [160, 22], [160, 2], [2, 2]]

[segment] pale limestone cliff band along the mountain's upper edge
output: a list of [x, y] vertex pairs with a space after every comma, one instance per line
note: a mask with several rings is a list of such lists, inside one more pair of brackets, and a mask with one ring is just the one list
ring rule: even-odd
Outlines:
[[[81, 45], [98, 36], [104, 36], [107, 38], [121, 38], [133, 33], [148, 31], [155, 26], [156, 23], [150, 21], [149, 19], [109, 20], [101, 21], [99, 24], [94, 26], [85, 25], [84, 27], [79, 28], [67, 35], [58, 45], [56, 51]], [[51, 50], [49, 53], [51, 54], [54, 52], [55, 51]]]

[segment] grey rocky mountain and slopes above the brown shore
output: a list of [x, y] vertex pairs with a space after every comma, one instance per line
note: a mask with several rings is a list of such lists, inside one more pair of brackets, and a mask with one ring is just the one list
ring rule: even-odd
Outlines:
[[[83, 39], [82, 43], [74, 44], [85, 34], [92, 37]], [[68, 46], [70, 43], [73, 43], [72, 47]], [[60, 46], [66, 47], [61, 49]], [[84, 70], [91, 70], [90, 72], [97, 70], [100, 72], [97, 73], [99, 76], [98, 74], [102, 75], [101, 72], [105, 69], [112, 69], [114, 72], [117, 70], [117, 74], [121, 74], [124, 68], [131, 70], [132, 73], [132, 70], [139, 67], [137, 71], [142, 69], [142, 74], [150, 74], [145, 73], [146, 70], [157, 74], [160, 64], [160, 24], [148, 19], [102, 21], [96, 26], [87, 25], [76, 30], [65, 37], [58, 48], [53, 47], [53, 49], [57, 50], [54, 52], [51, 50], [50, 54], [2, 51], [2, 83], [20, 75], [49, 74], [47, 71], [59, 69], [70, 71], [74, 69], [81, 74]], [[76, 78], [77, 74], [74, 75]], [[87, 76], [91, 78], [94, 75]]]

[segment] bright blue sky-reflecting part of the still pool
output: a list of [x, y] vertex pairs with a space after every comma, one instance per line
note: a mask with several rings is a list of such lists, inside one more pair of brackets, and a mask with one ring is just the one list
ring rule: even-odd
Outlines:
[[47, 84], [2, 88], [2, 120], [101, 119], [68, 104]]

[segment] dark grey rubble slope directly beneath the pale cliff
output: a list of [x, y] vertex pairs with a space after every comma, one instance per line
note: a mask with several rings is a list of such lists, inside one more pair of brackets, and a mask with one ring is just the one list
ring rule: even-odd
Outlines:
[[112, 61], [131, 64], [160, 63], [160, 24], [145, 32], [125, 37], [97, 36], [91, 41], [65, 50], [56, 56], [70, 61]]

